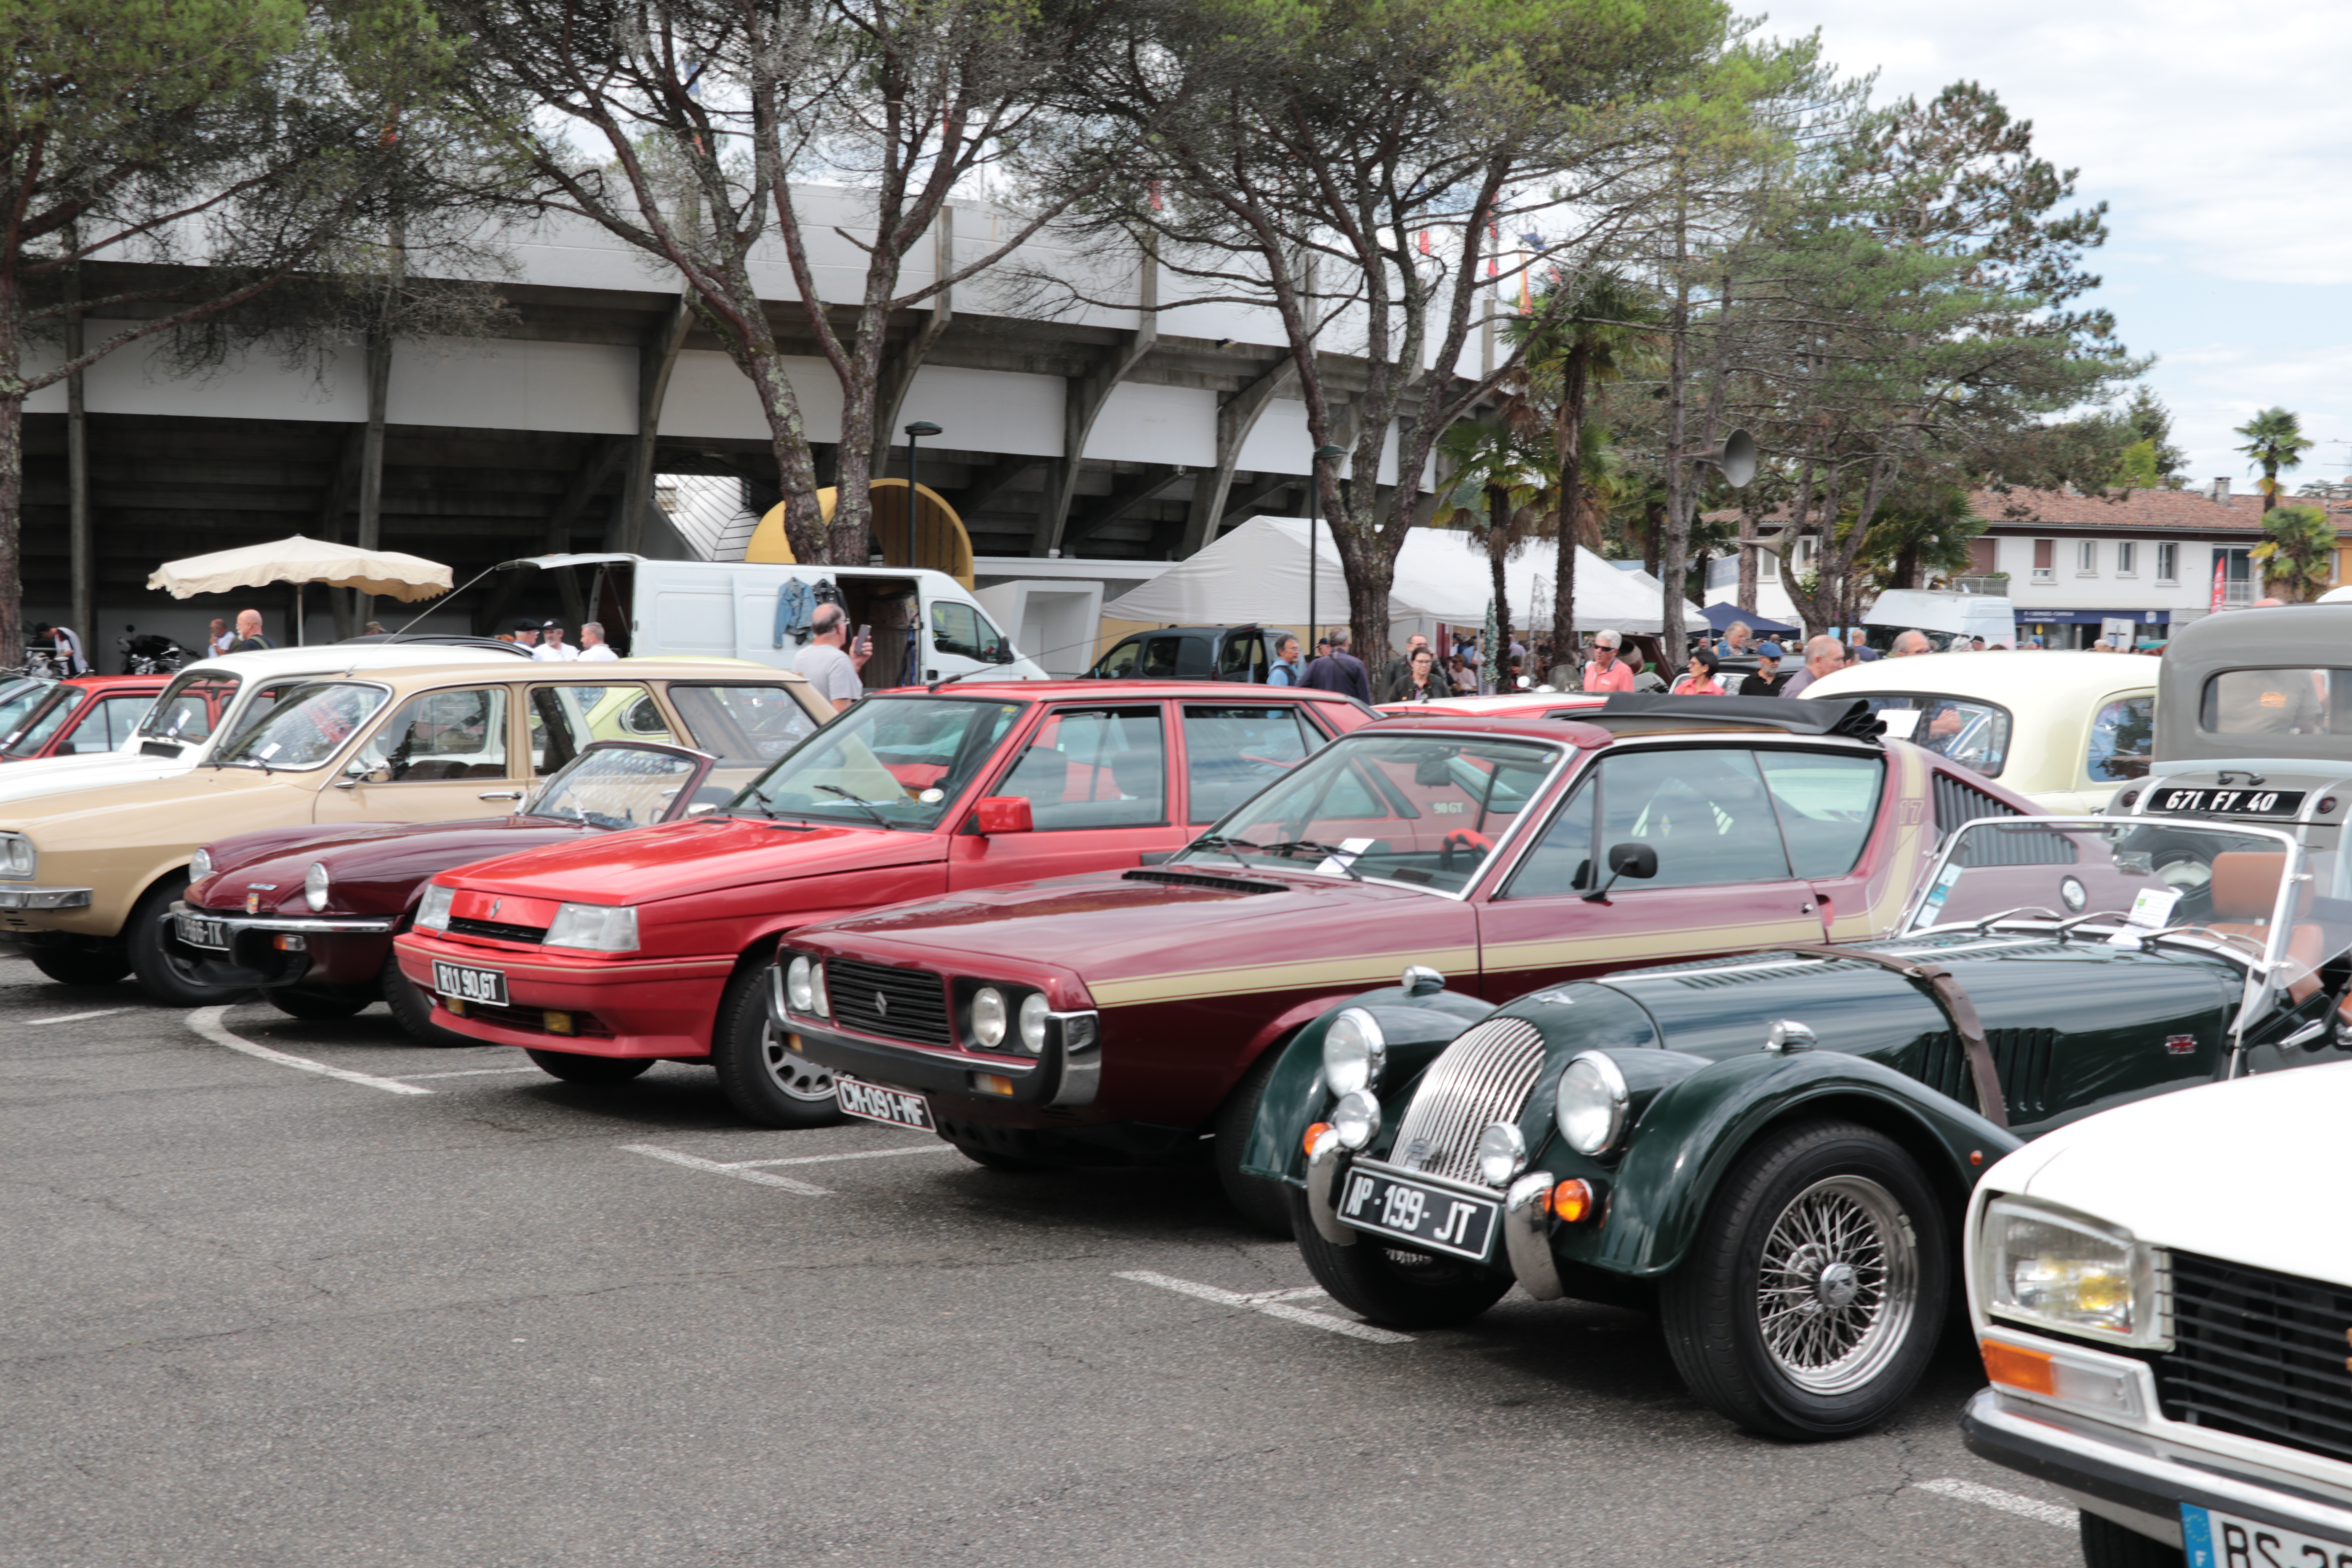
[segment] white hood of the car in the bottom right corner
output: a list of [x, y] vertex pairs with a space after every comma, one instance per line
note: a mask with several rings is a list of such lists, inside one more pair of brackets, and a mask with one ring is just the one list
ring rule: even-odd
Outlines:
[[2352, 1227], [2326, 1194], [2352, 1119], [2352, 1063], [2157, 1095], [2037, 1138], [1985, 1173], [2143, 1241], [2352, 1284]]

